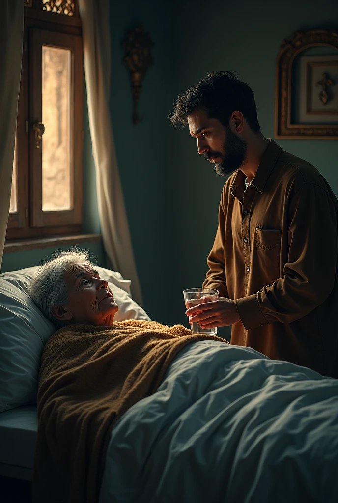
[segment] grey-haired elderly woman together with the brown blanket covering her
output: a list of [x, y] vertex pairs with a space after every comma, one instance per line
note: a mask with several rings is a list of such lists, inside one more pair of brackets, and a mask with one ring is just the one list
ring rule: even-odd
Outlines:
[[117, 419], [156, 390], [187, 344], [225, 342], [182, 325], [114, 322], [118, 305], [86, 251], [62, 252], [44, 264], [30, 295], [59, 328], [41, 359], [34, 502], [94, 502]]

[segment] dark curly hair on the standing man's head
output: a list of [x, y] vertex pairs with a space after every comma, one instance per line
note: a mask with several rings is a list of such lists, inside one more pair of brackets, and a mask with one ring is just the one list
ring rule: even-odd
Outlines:
[[232, 112], [239, 110], [252, 131], [261, 131], [253, 92], [231, 71], [208, 73], [196, 86], [180, 95], [174, 107], [175, 112], [169, 118], [178, 128], [187, 124], [188, 115], [196, 109], [205, 109], [211, 119], [218, 119], [225, 127], [229, 125]]

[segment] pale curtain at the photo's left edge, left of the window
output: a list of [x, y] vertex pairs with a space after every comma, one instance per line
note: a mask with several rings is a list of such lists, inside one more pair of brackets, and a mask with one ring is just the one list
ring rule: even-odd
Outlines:
[[23, 30], [24, 1], [2, 0], [0, 4], [0, 266], [11, 201]]

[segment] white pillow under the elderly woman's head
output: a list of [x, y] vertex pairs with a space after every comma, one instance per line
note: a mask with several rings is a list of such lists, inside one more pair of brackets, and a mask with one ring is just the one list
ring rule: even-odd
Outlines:
[[[41, 352], [55, 332], [28, 296], [28, 285], [38, 269], [0, 274], [0, 412], [36, 403]], [[97, 270], [109, 282], [119, 306], [114, 321], [150, 319], [131, 298], [130, 281], [115, 271]]]

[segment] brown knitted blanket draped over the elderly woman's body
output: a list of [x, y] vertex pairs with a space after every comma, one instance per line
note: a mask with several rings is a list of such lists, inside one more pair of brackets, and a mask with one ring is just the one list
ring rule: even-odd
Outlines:
[[55, 332], [42, 354], [33, 502], [96, 502], [114, 423], [156, 391], [182, 348], [206, 339], [225, 342], [140, 320]]

